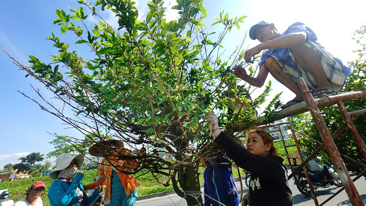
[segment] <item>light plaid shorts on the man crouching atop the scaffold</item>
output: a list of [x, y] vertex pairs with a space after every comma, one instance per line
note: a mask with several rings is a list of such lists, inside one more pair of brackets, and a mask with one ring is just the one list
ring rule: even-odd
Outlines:
[[[326, 78], [328, 79], [328, 82], [330, 82], [330, 84], [336, 91], [339, 91], [342, 88], [344, 81], [346, 79], [342, 66], [340, 64], [338, 64], [330, 56], [330, 54], [327, 51], [320, 48], [318, 45], [314, 44], [313, 42], [306, 41], [306, 42], [302, 43], [302, 45], [316, 51], [316, 53], [318, 54], [322, 69], [324, 71], [324, 74], [325, 74]], [[292, 61], [297, 63], [290, 49], [289, 49], [289, 55], [290, 55]], [[294, 82], [296, 82], [296, 84], [297, 84], [297, 79], [302, 77], [304, 79], [307, 87], [309, 88], [309, 90], [313, 90], [313, 91], [316, 90], [317, 86], [316, 86], [315, 78], [308, 71], [306, 71], [303, 67], [301, 67], [300, 64], [296, 64], [297, 65], [296, 67], [291, 67], [289, 65], [286, 65], [283, 60], [278, 59], [274, 55], [270, 55], [270, 56], [277, 60], [279, 65], [282, 67], [283, 72], [290, 75], [291, 79]]]

